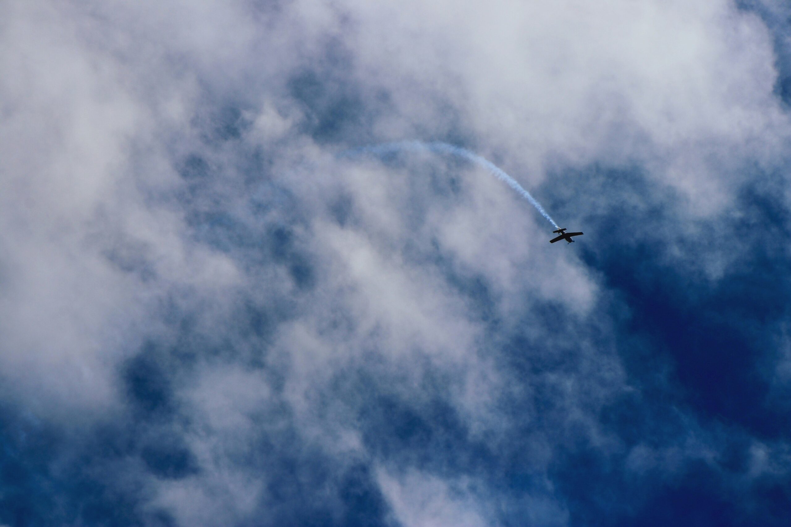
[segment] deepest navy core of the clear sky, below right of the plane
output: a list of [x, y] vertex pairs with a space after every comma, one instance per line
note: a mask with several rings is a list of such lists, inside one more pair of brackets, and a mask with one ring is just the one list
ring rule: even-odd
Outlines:
[[[739, 231], [730, 230], [734, 237], [746, 234]], [[788, 437], [791, 423], [766, 407], [768, 379], [758, 368], [773, 322], [785, 313], [787, 262], [766, 258], [765, 250], [755, 247], [750, 260], [714, 288], [695, 288], [694, 277], [679, 276], [676, 269], [652, 269], [656, 252], [638, 258], [630, 252], [632, 258], [611, 253], [600, 269], [625, 295], [630, 331], [647, 333], [654, 350], [672, 356], [691, 404], [704, 416], [741, 423], [759, 435]]]

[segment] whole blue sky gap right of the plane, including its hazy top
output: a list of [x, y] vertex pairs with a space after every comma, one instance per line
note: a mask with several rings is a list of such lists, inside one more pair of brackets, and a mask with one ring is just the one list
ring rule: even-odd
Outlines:
[[[646, 188], [637, 172], [592, 168], [558, 178], [565, 183], [559, 189], [577, 189], [568, 202], [585, 210], [586, 237], [591, 236], [580, 246], [581, 257], [630, 313], [621, 356], [634, 382], [645, 384], [645, 376], [669, 360], [671, 381], [679, 383], [684, 401], [704, 420], [787, 438], [791, 421], [766, 405], [770, 386], [759, 368], [791, 293], [791, 262], [784, 248], [788, 222], [778, 194], [747, 187], [734, 207], [739, 215], [706, 220], [700, 234], [688, 235], [673, 230], [677, 201], [672, 193]], [[585, 195], [602, 192], [623, 198], [606, 212], [586, 210]], [[657, 201], [662, 194], [667, 198]], [[646, 195], [653, 205], [641, 198]], [[670, 244], [689, 257], [668, 258]], [[724, 277], [706, 279], [697, 262], [710, 254], [726, 258], [734, 252], [732, 245], [748, 250], [737, 252], [741, 256]]]

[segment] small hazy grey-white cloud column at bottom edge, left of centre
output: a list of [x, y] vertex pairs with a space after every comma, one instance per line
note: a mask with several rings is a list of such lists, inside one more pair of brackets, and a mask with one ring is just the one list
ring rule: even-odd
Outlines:
[[[255, 372], [228, 364], [203, 367], [181, 393], [180, 413], [189, 423], [181, 435], [199, 472], [180, 480], [155, 480], [152, 507], [167, 510], [179, 525], [234, 525], [257, 510], [267, 474], [237, 461], [252, 454], [267, 419], [271, 390]], [[260, 423], [267, 419], [267, 423]]]

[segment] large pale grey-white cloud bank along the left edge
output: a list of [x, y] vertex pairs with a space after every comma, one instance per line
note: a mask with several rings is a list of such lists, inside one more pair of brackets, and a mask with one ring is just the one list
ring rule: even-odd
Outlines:
[[157, 299], [237, 280], [233, 262], [185, 243], [180, 213], [147, 198], [178, 181], [157, 134], [183, 126], [184, 109], [159, 110], [191, 93], [174, 95], [176, 78], [146, 99], [158, 72], [99, 45], [119, 42], [84, 10], [0, 9], [0, 69], [13, 72], [0, 81], [3, 372], [37, 412], [112, 405], [115, 367], [156, 326]]

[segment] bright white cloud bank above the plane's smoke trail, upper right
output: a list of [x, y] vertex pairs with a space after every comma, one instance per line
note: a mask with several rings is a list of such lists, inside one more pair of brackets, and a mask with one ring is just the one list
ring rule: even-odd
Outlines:
[[441, 92], [528, 183], [557, 157], [638, 160], [711, 211], [745, 156], [785, 145], [769, 33], [732, 2], [346, 6], [361, 81], [392, 89], [400, 119], [441, 131]]

